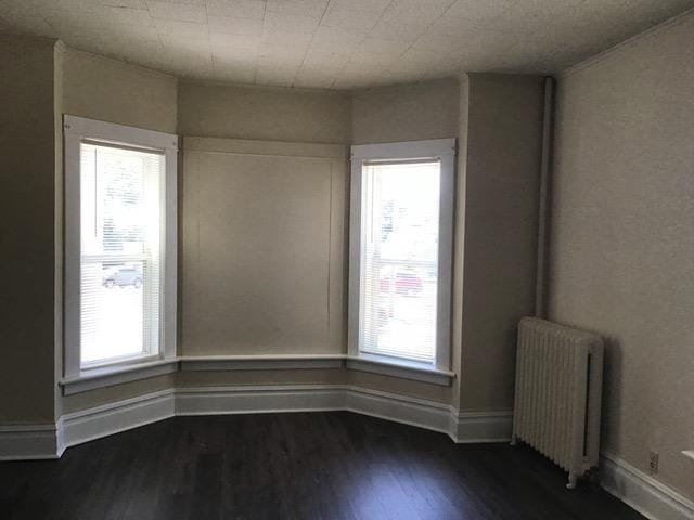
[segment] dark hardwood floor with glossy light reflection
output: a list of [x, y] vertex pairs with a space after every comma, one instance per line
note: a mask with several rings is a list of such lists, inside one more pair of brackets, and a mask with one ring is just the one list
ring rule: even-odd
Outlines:
[[0, 463], [3, 519], [643, 519], [527, 447], [348, 412], [177, 417]]

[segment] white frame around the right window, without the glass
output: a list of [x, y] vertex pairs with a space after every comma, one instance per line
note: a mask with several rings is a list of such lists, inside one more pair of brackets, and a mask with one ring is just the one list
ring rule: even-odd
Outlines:
[[[361, 351], [361, 240], [363, 165], [373, 160], [436, 159], [440, 161], [438, 286], [436, 309], [436, 355], [433, 363]], [[349, 206], [349, 307], [347, 366], [426, 382], [447, 385], [451, 366], [451, 281], [453, 255], [453, 194], [455, 139], [363, 144], [351, 147]]]

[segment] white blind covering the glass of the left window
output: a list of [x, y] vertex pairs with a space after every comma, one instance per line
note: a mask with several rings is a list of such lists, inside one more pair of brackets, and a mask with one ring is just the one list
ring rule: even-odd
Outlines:
[[163, 153], [82, 141], [80, 360], [156, 355], [163, 298]]

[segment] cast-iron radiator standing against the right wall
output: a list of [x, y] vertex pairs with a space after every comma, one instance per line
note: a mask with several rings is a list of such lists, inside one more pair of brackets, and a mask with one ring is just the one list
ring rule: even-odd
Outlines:
[[568, 471], [568, 489], [597, 466], [603, 340], [544, 320], [518, 324], [513, 441]]

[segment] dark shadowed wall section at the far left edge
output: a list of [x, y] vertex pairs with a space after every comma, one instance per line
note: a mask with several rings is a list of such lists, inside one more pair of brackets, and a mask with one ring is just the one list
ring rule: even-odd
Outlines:
[[54, 419], [54, 40], [0, 36], [0, 422]]

